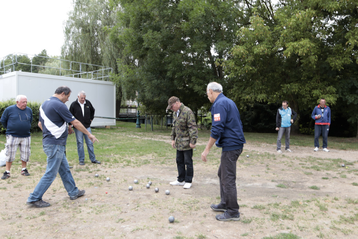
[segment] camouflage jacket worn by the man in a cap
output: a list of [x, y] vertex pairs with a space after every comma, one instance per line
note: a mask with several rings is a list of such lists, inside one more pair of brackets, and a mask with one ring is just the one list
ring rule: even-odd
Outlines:
[[190, 150], [189, 144], [196, 144], [198, 128], [195, 122], [193, 111], [183, 103], [179, 108], [179, 116], [173, 113], [172, 140], [175, 140], [175, 147], [179, 151]]

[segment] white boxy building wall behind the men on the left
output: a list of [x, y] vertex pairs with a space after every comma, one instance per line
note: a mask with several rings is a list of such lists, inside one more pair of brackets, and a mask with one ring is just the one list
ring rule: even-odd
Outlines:
[[86, 98], [96, 109], [92, 126], [116, 124], [115, 119], [98, 117], [115, 118], [115, 85], [108, 81], [11, 72], [0, 76], [0, 100], [9, 100], [15, 98], [16, 95], [26, 95], [28, 101], [42, 103], [54, 94], [57, 87], [62, 85], [68, 86], [72, 90], [69, 101], [66, 103], [68, 107], [77, 99], [78, 92], [81, 90], [86, 92]]

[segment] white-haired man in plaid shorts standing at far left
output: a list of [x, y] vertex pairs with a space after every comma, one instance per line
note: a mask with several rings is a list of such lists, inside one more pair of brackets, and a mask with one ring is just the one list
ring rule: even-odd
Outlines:
[[1, 179], [10, 178], [10, 169], [15, 160], [17, 148], [20, 148], [22, 164], [21, 175], [30, 176], [26, 169], [31, 155], [30, 129], [32, 123], [32, 110], [27, 107], [27, 97], [18, 95], [16, 105], [7, 107], [1, 116], [1, 123], [6, 128], [6, 171]]

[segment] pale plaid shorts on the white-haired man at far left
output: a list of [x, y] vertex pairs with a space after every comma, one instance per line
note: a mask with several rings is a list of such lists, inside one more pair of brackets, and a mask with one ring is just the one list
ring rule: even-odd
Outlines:
[[26, 138], [19, 138], [6, 135], [6, 162], [10, 163], [15, 160], [17, 147], [20, 147], [20, 159], [24, 162], [28, 162], [31, 155], [31, 136]]

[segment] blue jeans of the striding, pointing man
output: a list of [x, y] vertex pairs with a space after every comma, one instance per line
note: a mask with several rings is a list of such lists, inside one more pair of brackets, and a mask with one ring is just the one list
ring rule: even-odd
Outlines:
[[65, 155], [65, 145], [43, 145], [43, 150], [47, 155], [47, 168], [45, 174], [40, 179], [40, 182], [35, 187], [33, 193], [30, 193], [28, 202], [36, 202], [42, 199], [47, 189], [55, 180], [57, 173], [60, 174], [63, 186], [68, 193], [68, 196], [76, 196], [78, 188], [76, 187], [75, 180], [72, 177], [70, 167], [68, 166], [67, 158]]

